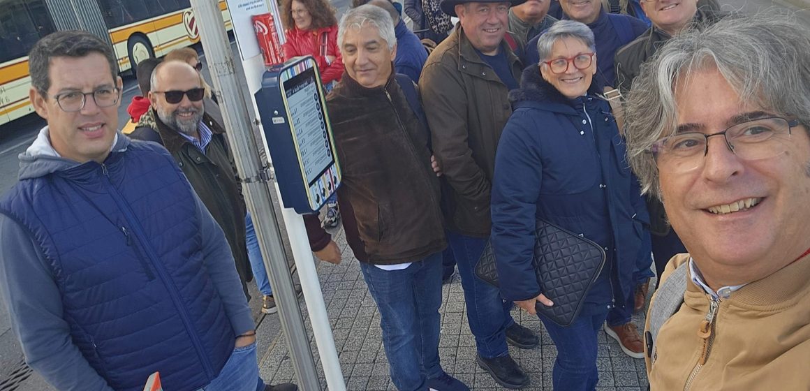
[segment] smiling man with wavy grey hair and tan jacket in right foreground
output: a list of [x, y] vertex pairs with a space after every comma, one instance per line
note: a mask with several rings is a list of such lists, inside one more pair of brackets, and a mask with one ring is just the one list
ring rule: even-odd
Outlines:
[[646, 325], [652, 389], [810, 384], [810, 30], [735, 17], [669, 40], [625, 136], [687, 254]]

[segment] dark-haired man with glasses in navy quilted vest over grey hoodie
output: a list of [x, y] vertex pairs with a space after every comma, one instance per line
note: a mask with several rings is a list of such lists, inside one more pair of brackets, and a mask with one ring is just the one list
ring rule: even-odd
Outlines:
[[[29, 55], [48, 125], [0, 201], [0, 291], [25, 359], [60, 390], [264, 389], [222, 229], [163, 147], [116, 131], [108, 45], [56, 32]], [[294, 387], [294, 386], [293, 386]]]

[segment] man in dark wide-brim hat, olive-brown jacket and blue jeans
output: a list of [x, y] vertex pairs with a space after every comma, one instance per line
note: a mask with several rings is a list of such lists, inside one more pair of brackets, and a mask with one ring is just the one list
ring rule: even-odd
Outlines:
[[495, 149], [512, 113], [507, 94], [518, 87], [522, 71], [505, 39], [509, 7], [522, 2], [442, 0], [442, 11], [457, 16], [458, 24], [430, 54], [419, 82], [433, 153], [450, 185], [447, 239], [462, 278], [475, 361], [510, 389], [526, 387], [529, 376], [509, 355], [507, 342], [531, 349], [539, 338], [515, 323], [512, 304], [503, 303], [500, 291], [476, 278], [474, 270], [491, 227]]

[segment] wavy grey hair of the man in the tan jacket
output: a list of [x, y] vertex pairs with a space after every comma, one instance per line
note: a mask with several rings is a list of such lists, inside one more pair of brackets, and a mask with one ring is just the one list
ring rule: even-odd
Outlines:
[[628, 155], [643, 193], [661, 198], [658, 168], [647, 151], [676, 132], [678, 86], [711, 70], [748, 104], [810, 124], [810, 30], [795, 16], [732, 15], [689, 28], [642, 66], [625, 102]]

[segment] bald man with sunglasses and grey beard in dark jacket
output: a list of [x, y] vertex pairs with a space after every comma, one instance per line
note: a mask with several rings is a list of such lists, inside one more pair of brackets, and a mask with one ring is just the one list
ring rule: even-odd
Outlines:
[[252, 279], [245, 246], [245, 200], [218, 110], [207, 110], [203, 79], [181, 61], [162, 62], [151, 74], [148, 98], [155, 123], [139, 124], [130, 138], [159, 142], [172, 154], [199, 198], [225, 232], [248, 297]]

